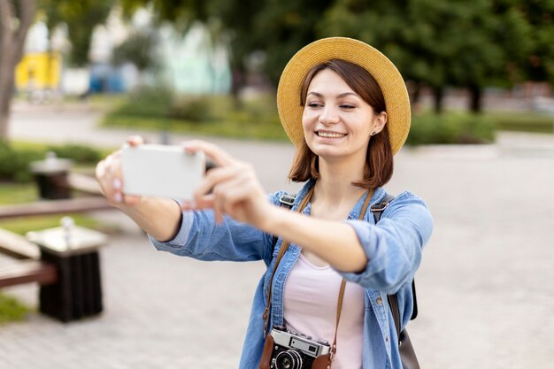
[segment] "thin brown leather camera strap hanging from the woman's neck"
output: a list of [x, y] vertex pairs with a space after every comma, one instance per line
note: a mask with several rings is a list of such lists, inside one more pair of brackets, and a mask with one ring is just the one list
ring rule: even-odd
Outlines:
[[[298, 208], [296, 209], [297, 212], [304, 211], [304, 208], [306, 205], [310, 202], [310, 199], [313, 195], [313, 188], [315, 186], [312, 186], [310, 188], [310, 191], [304, 196], [300, 204], [298, 205]], [[365, 196], [364, 204], [362, 205], [362, 209], [360, 210], [358, 214], [358, 220], [364, 219], [365, 212], [367, 211], [367, 207], [369, 206], [369, 203], [371, 201], [371, 198], [373, 196], [373, 188], [369, 189], [367, 191], [367, 196]], [[275, 266], [273, 267], [273, 272], [271, 275], [271, 279], [269, 280], [269, 292], [267, 295], [267, 304], [265, 304], [265, 311], [262, 315], [262, 318], [265, 320], [265, 326], [264, 326], [264, 338], [267, 337], [267, 328], [269, 327], [269, 316], [270, 316], [270, 308], [271, 308], [271, 300], [272, 300], [272, 287], [273, 287], [273, 277], [275, 276], [275, 272], [277, 271], [277, 267], [279, 266], [279, 263], [281, 263], [281, 259], [285, 252], [289, 250], [290, 242], [287, 240], [283, 240], [281, 243], [281, 249], [279, 250], [279, 253], [277, 254], [277, 258], [275, 260]], [[333, 345], [331, 346], [331, 361], [335, 358], [336, 354], [336, 334], [339, 329], [339, 321], [341, 320], [341, 311], [342, 311], [342, 299], [344, 297], [344, 289], [346, 288], [346, 280], [342, 278], [341, 282], [341, 288], [339, 290], [339, 296], [338, 301], [336, 304], [336, 325], [335, 325], [335, 338], [333, 339]]]

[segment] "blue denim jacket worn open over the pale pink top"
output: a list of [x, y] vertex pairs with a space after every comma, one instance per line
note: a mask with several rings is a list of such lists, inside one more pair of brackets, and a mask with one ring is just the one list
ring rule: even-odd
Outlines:
[[[296, 210], [313, 181], [308, 181], [298, 192], [292, 210]], [[283, 195], [270, 196], [275, 205]], [[388, 194], [376, 188], [370, 204], [378, 204]], [[389, 309], [387, 295], [397, 292], [398, 305], [404, 327], [412, 316], [412, 279], [421, 261], [421, 250], [433, 229], [433, 219], [427, 206], [411, 192], [404, 192], [383, 211], [377, 225], [371, 211], [358, 220], [365, 196], [350, 211], [345, 221], [354, 228], [368, 262], [361, 273], [341, 273], [347, 281], [365, 288], [365, 317], [363, 337], [363, 369], [402, 368], [398, 352], [396, 327]], [[304, 213], [309, 213], [306, 206]], [[267, 271], [254, 294], [246, 339], [242, 347], [239, 369], [255, 369], [264, 348], [264, 320], [262, 314], [268, 292], [268, 283], [275, 265], [281, 239], [272, 253], [273, 236], [255, 227], [225, 217], [216, 225], [212, 211], [185, 211], [181, 229], [169, 242], [158, 242], [150, 237], [158, 250], [199, 260], [251, 261], [263, 260]], [[273, 278], [270, 327], [283, 325], [283, 289], [290, 269], [296, 263], [301, 248], [290, 244]]]

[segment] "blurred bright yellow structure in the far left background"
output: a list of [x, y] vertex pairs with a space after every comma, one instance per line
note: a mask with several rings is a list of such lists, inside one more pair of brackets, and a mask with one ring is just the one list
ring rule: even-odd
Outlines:
[[19, 91], [57, 89], [60, 83], [62, 57], [59, 52], [26, 54], [15, 70]]

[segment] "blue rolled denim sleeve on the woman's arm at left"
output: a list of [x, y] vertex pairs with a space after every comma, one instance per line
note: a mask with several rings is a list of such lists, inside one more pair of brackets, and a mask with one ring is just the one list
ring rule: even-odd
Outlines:
[[[273, 204], [280, 193], [269, 196]], [[216, 224], [212, 210], [183, 211], [181, 228], [173, 240], [159, 242], [150, 236], [158, 250], [205, 261], [253, 261], [271, 258], [273, 236], [256, 227], [225, 216]]]

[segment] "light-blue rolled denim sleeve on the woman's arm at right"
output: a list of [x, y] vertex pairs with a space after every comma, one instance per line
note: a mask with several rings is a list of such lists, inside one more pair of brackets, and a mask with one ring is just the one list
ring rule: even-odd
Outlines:
[[421, 250], [433, 231], [431, 213], [418, 196], [404, 192], [383, 211], [377, 225], [371, 211], [365, 217], [347, 222], [358, 234], [368, 262], [360, 273], [341, 274], [365, 288], [394, 294], [412, 281], [419, 267]]

